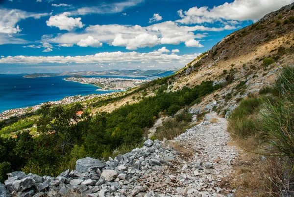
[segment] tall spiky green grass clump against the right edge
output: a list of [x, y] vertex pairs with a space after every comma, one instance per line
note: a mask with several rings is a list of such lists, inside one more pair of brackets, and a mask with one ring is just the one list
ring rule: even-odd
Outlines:
[[277, 81], [281, 95], [274, 103], [266, 101], [261, 112], [262, 131], [267, 141], [294, 164], [294, 68], [284, 66]]

